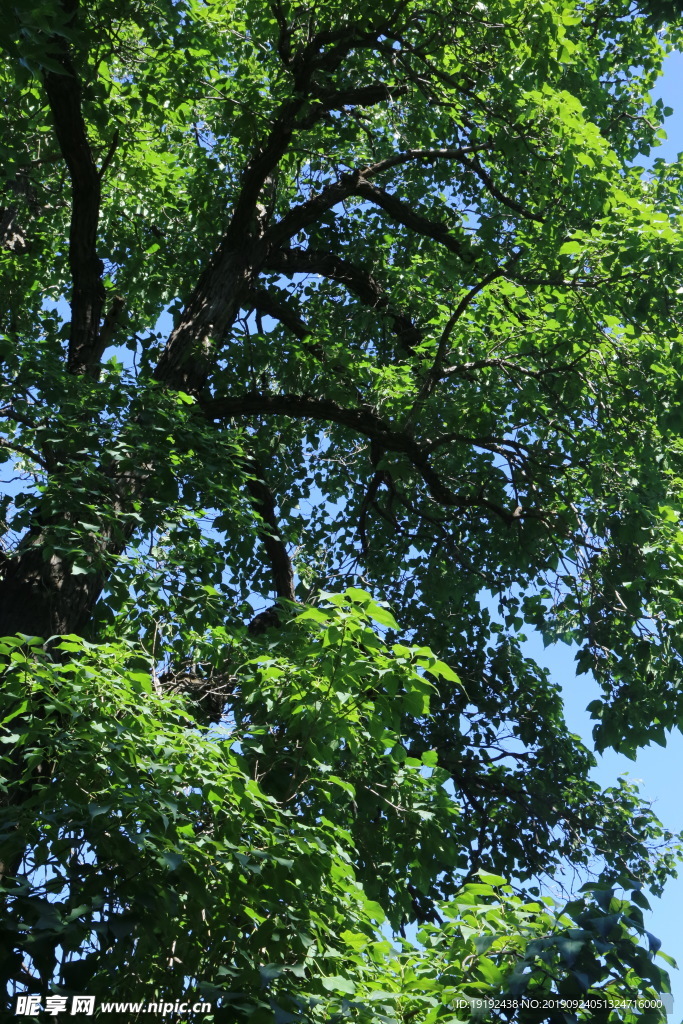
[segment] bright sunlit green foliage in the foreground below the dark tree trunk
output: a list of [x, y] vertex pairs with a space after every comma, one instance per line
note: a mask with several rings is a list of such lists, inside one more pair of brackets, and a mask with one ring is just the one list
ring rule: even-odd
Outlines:
[[422, 916], [405, 880], [426, 892], [458, 859], [460, 814], [436, 752], [400, 741], [429, 679], [452, 673], [426, 648], [389, 649], [371, 623], [386, 614], [359, 591], [300, 614], [287, 650], [244, 667], [229, 739], [156, 693], [133, 645], [66, 638], [57, 660], [5, 643], [6, 740], [31, 793], [5, 836], [10, 855], [30, 849], [5, 885], [5, 978], [26, 978], [28, 954], [53, 991], [189, 990], [222, 1008], [190, 1019], [263, 1024], [430, 1024], [551, 996], [559, 1022], [579, 1005], [581, 1020], [661, 1020], [666, 976], [639, 940], [658, 943], [628, 879], [631, 900], [602, 882], [560, 908], [479, 871], [451, 881], [418, 946], [388, 940], [380, 926]]

